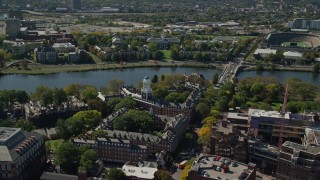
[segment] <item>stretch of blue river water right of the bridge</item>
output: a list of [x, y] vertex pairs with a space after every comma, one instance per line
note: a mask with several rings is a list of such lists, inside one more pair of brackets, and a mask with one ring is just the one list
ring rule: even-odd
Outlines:
[[262, 77], [275, 77], [278, 82], [283, 83], [288, 78], [298, 78], [302, 81], [310, 82], [320, 85], [320, 74], [312, 72], [294, 72], [294, 71], [245, 71], [238, 74], [238, 79], [244, 77], [262, 76]]

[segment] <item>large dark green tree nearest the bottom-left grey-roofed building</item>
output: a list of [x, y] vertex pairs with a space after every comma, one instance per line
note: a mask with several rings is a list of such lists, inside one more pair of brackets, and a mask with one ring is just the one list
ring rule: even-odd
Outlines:
[[55, 151], [55, 162], [67, 173], [76, 173], [79, 166], [80, 150], [77, 146], [65, 142]]

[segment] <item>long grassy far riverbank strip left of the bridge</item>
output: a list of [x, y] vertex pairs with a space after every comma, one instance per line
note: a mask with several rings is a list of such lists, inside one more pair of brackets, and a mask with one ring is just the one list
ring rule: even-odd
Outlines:
[[29, 64], [25, 68], [9, 67], [1, 70], [0, 73], [6, 74], [55, 74], [61, 72], [85, 72], [85, 71], [101, 71], [110, 69], [122, 68], [147, 68], [147, 67], [194, 67], [194, 68], [223, 68], [219, 64], [203, 64], [197, 61], [141, 61], [133, 63], [110, 63], [110, 64], [64, 64], [64, 65], [44, 65], [44, 64]]

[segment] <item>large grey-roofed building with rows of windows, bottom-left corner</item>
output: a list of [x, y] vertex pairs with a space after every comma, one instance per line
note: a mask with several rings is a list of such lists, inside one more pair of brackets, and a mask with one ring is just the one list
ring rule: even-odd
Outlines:
[[0, 127], [0, 179], [39, 179], [46, 163], [45, 137]]

